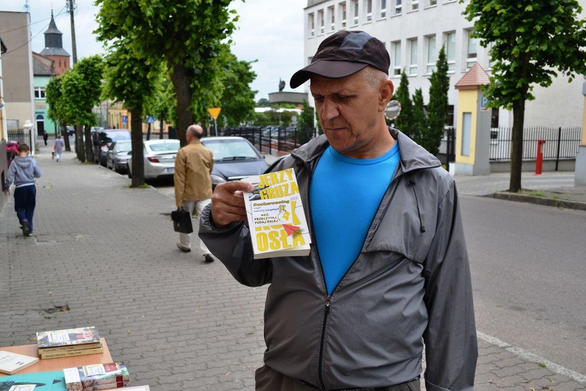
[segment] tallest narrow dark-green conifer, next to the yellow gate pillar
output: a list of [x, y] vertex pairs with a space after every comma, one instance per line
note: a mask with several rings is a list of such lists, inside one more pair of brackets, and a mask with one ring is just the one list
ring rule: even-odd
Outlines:
[[438, 53], [435, 70], [430, 77], [430, 103], [427, 105], [427, 129], [423, 132], [421, 145], [432, 155], [440, 152], [441, 139], [444, 137], [444, 125], [448, 118], [448, 62], [444, 46]]

